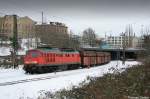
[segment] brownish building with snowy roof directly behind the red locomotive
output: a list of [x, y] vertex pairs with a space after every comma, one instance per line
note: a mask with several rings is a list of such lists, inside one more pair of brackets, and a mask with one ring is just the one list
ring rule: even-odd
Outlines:
[[37, 24], [35, 26], [37, 37], [41, 42], [52, 47], [68, 46], [68, 27], [59, 22], [50, 22], [49, 24]]

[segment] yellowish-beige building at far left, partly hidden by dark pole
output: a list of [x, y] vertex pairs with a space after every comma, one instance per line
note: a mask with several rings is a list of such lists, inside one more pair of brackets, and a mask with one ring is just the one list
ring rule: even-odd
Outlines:
[[[35, 21], [29, 17], [17, 17], [18, 38], [27, 38], [35, 34]], [[0, 36], [7, 39], [13, 37], [13, 15], [0, 18]]]

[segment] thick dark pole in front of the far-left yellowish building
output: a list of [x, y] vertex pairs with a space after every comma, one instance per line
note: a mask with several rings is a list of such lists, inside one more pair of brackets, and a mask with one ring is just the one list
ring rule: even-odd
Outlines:
[[12, 38], [12, 65], [14, 68], [18, 66], [18, 31], [17, 31], [17, 15], [13, 15], [13, 38]]

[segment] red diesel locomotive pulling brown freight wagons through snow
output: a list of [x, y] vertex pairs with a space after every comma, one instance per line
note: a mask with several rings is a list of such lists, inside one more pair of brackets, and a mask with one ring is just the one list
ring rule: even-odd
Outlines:
[[91, 67], [110, 62], [107, 52], [84, 51], [58, 48], [37, 48], [27, 51], [24, 56], [26, 73], [46, 73]]

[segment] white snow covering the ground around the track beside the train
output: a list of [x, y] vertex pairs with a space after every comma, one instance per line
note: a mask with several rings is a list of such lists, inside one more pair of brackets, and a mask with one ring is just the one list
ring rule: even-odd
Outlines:
[[[118, 64], [118, 65], [117, 65]], [[30, 97], [36, 99], [40, 95], [40, 92], [51, 91], [55, 92], [60, 89], [66, 88], [71, 89], [73, 85], [79, 85], [82, 81], [86, 80], [88, 76], [98, 77], [103, 76], [108, 72], [112, 72], [110, 68], [114, 67], [121, 70], [121, 68], [128, 68], [132, 65], [139, 64], [136, 61], [128, 61], [125, 65], [122, 65], [121, 61], [111, 61], [108, 64], [101, 65], [98, 67], [78, 69], [72, 71], [63, 71], [57, 73], [47, 73], [47, 74], [36, 74], [36, 75], [26, 75], [24, 71], [19, 69], [2, 69], [0, 70], [0, 83], [6, 81], [16, 81], [21, 79], [37, 78], [52, 76], [55, 78], [34, 82], [20, 83], [16, 85], [0, 86], [0, 97], [1, 99], [23, 99]]]

